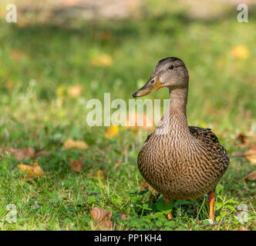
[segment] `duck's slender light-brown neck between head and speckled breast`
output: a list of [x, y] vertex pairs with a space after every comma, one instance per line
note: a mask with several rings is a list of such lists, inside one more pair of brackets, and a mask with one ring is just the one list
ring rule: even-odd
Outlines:
[[[187, 91], [188, 88], [175, 88], [170, 91], [169, 108], [157, 125], [158, 134], [170, 135], [176, 132], [189, 133], [187, 125]], [[176, 135], [176, 134], [175, 134]]]

